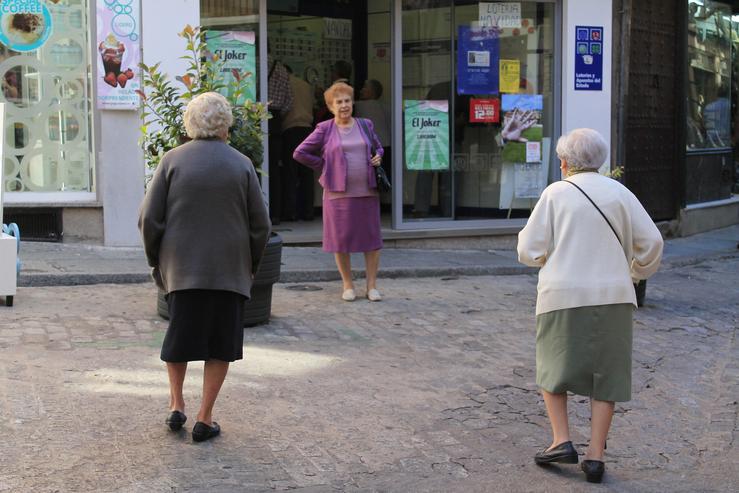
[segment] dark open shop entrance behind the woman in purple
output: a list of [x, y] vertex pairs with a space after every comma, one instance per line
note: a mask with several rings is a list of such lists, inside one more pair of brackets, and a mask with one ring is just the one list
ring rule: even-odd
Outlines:
[[[318, 174], [296, 163], [292, 152], [317, 123], [333, 117], [323, 92], [337, 80], [354, 88], [355, 116], [373, 120], [391, 175], [390, 26], [389, 0], [267, 1], [267, 70], [285, 67], [293, 97], [291, 109], [270, 122], [270, 214], [279, 229], [320, 235]], [[270, 93], [270, 100], [275, 97]], [[389, 226], [389, 194], [382, 203]]]

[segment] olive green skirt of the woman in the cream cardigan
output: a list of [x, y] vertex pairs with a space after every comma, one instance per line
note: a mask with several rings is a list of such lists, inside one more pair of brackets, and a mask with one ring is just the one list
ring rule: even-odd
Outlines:
[[599, 401], [631, 399], [634, 305], [582, 306], [536, 316], [536, 384]]

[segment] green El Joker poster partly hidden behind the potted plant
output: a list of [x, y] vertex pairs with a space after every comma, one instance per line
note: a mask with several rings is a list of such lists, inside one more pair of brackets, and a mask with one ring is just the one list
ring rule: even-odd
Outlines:
[[242, 84], [244, 91], [237, 104], [257, 98], [257, 51], [254, 41], [255, 35], [251, 31], [206, 32], [208, 51], [223, 64], [223, 81], [227, 87], [219, 92], [230, 99], [235, 90], [233, 83], [238, 81]]

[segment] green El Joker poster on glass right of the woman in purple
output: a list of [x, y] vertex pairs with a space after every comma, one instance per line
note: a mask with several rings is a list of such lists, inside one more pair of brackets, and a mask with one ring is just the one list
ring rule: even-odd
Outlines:
[[449, 102], [406, 100], [405, 166], [411, 171], [449, 169]]

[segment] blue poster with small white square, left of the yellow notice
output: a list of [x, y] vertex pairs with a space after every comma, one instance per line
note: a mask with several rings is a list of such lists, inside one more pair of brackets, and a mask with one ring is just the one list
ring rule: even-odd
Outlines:
[[498, 94], [500, 31], [459, 26], [457, 94]]

